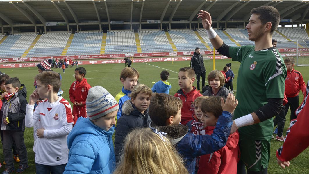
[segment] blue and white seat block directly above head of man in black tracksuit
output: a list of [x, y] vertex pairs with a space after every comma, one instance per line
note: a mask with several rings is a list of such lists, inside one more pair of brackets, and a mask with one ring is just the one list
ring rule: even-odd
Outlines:
[[192, 30], [179, 29], [171, 30], [168, 33], [178, 51], [192, 51], [196, 47], [199, 47], [201, 50], [207, 50]]

